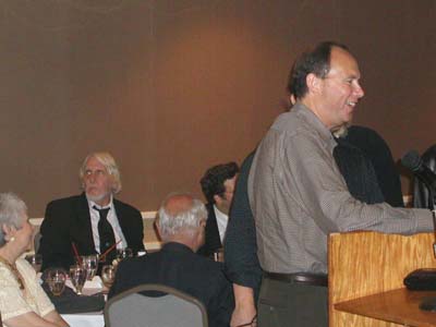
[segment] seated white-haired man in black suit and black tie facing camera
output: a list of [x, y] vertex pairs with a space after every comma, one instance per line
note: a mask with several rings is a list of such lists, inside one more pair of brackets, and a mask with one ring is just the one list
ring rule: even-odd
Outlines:
[[[69, 268], [78, 254], [102, 254], [109, 249], [144, 250], [141, 213], [113, 197], [121, 191], [120, 171], [108, 153], [88, 155], [80, 169], [84, 193], [56, 199], [46, 208], [40, 227], [43, 269]], [[74, 244], [74, 245], [73, 245]], [[113, 256], [113, 249], [109, 258]]]

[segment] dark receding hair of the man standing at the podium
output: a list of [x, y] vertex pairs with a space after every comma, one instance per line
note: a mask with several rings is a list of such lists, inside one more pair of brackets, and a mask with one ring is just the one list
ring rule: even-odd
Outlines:
[[289, 74], [288, 92], [296, 99], [304, 97], [307, 93], [306, 76], [311, 73], [324, 78], [330, 71], [330, 55], [334, 47], [349, 51], [347, 46], [324, 41], [318, 44], [312, 51], [304, 52], [296, 59]]

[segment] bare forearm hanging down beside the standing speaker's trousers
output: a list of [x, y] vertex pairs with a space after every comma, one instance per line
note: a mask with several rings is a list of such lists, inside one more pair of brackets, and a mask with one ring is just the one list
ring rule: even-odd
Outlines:
[[254, 305], [253, 289], [233, 283], [234, 311], [230, 327], [256, 327], [256, 306]]

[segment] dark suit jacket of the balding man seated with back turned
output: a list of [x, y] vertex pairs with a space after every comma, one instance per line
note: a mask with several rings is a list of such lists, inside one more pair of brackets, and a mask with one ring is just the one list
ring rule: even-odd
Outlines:
[[196, 255], [181, 243], [167, 243], [159, 252], [121, 262], [109, 299], [143, 283], [185, 292], [203, 302], [209, 327], [229, 326], [234, 300], [221, 263]]

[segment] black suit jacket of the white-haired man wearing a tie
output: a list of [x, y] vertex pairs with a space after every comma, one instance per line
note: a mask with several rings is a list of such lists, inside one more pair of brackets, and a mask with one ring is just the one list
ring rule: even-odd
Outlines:
[[[141, 213], [114, 198], [113, 206], [128, 246], [134, 253], [144, 250]], [[95, 254], [89, 207], [85, 194], [50, 202], [46, 208], [40, 233], [38, 253], [43, 255], [43, 269], [55, 266], [68, 269], [74, 263], [73, 242], [81, 255]]]

